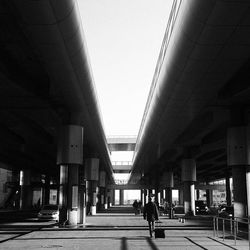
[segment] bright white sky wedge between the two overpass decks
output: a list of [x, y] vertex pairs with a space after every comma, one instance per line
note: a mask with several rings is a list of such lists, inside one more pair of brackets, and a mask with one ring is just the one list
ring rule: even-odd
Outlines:
[[106, 135], [137, 135], [172, 0], [78, 0]]

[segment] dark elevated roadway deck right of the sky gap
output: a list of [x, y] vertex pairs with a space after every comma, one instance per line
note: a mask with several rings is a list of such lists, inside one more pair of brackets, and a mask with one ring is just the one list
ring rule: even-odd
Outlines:
[[245, 214], [249, 20], [248, 1], [175, 1], [130, 182], [159, 183], [164, 173], [174, 185], [233, 177], [234, 207]]

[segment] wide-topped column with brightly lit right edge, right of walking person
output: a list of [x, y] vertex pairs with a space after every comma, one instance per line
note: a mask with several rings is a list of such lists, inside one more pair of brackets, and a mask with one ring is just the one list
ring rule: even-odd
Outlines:
[[195, 215], [195, 187], [196, 181], [196, 163], [194, 159], [184, 159], [181, 162], [183, 196], [184, 196], [184, 212]]

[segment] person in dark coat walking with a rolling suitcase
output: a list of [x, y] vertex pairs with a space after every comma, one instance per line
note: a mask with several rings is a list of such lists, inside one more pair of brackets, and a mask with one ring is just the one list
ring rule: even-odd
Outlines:
[[156, 204], [152, 202], [151, 197], [149, 197], [148, 203], [144, 207], [143, 218], [148, 221], [149, 234], [152, 238], [155, 229], [155, 221], [159, 219], [159, 212]]

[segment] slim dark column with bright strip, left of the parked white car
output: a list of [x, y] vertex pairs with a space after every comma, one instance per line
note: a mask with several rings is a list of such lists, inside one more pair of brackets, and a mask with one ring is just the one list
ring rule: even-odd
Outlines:
[[31, 173], [30, 170], [24, 169], [20, 171], [20, 209], [30, 209], [32, 207], [32, 189], [30, 186]]

